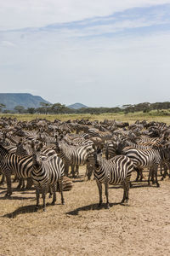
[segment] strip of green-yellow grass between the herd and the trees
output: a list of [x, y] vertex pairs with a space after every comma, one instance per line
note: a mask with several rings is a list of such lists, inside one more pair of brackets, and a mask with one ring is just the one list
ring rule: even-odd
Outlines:
[[31, 121], [32, 119], [48, 119], [54, 121], [54, 119], [59, 119], [61, 121], [66, 121], [68, 119], [89, 119], [89, 120], [99, 120], [103, 121], [104, 119], [115, 119], [116, 121], [129, 122], [129, 124], [134, 123], [136, 120], [146, 120], [150, 121], [159, 121], [165, 122], [167, 125], [170, 125], [170, 114], [168, 111], [150, 111], [150, 113], [135, 112], [135, 113], [102, 113], [102, 114], [9, 114], [1, 113], [0, 117], [7, 118], [16, 118], [22, 121]]

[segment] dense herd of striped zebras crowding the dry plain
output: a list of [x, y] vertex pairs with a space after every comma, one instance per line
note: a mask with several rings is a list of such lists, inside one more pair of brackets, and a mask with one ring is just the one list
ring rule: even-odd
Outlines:
[[[64, 190], [71, 190], [71, 177], [79, 175], [79, 166], [87, 166], [86, 175], [94, 179], [99, 189], [99, 206], [102, 204], [102, 183], [105, 184], [106, 207], [109, 208], [109, 184], [122, 184], [122, 203], [128, 201], [132, 172], [136, 181], [143, 179], [147, 168], [152, 183], [161, 167], [161, 179], [169, 174], [170, 127], [165, 123], [136, 121], [134, 124], [105, 119], [103, 122], [88, 119], [61, 122], [55, 119], [35, 119], [31, 122], [17, 119], [0, 119], [0, 172], [1, 183], [6, 179], [6, 196], [12, 195], [11, 176], [19, 179], [18, 188], [36, 189], [37, 206], [42, 193], [43, 210], [46, 194], [56, 201], [59, 190], [64, 204]], [[69, 167], [71, 166], [71, 172]], [[163, 169], [163, 171], [162, 171]], [[69, 177], [70, 178], [69, 178]]]

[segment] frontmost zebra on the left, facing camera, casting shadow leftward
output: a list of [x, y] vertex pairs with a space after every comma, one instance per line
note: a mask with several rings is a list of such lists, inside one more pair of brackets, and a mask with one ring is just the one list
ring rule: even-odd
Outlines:
[[43, 211], [46, 210], [45, 196], [48, 192], [48, 189], [53, 191], [53, 201], [52, 205], [56, 201], [56, 186], [59, 183], [59, 192], [61, 194], [61, 202], [65, 203], [63, 197], [63, 177], [65, 175], [65, 166], [63, 161], [57, 156], [57, 154], [48, 157], [48, 160], [41, 160], [41, 150], [40, 148], [35, 149], [32, 145], [32, 172], [31, 177], [33, 183], [36, 187], [36, 196], [37, 196], [37, 206], [39, 207], [39, 195], [40, 189], [42, 190], [42, 199], [43, 199]]

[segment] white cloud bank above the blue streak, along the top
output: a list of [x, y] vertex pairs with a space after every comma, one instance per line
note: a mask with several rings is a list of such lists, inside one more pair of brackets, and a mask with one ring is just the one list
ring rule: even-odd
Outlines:
[[164, 3], [170, 0], [7, 0], [0, 3], [0, 30], [84, 20]]

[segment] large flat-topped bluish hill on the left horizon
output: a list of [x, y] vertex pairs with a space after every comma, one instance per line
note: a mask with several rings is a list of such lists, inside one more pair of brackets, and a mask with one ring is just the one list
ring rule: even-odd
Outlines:
[[30, 93], [0, 93], [0, 103], [3, 103], [8, 110], [13, 110], [15, 106], [24, 108], [39, 108], [40, 102], [49, 103], [41, 96], [33, 96]]

